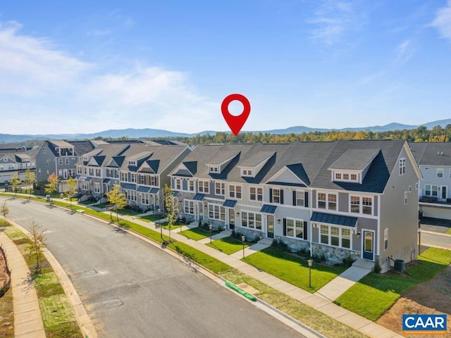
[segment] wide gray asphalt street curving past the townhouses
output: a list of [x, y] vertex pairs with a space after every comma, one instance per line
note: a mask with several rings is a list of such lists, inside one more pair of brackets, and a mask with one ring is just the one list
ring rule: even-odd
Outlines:
[[6, 199], [8, 218], [47, 229], [99, 337], [302, 337], [136, 237], [84, 215]]

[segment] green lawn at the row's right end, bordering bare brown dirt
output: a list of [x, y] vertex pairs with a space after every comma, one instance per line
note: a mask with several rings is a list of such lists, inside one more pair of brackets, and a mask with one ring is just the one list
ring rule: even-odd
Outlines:
[[[426, 282], [451, 263], [451, 251], [430, 248], [418, 257], [419, 264], [406, 275], [370, 273], [342, 294], [335, 303], [348, 310], [377, 320], [410, 288]], [[369, 306], [371, 304], [371, 306]]]

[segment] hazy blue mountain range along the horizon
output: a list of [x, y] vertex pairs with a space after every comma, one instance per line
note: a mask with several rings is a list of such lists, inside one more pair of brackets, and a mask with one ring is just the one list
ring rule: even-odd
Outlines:
[[[440, 125], [445, 127], [451, 124], [451, 118], [446, 120], [438, 120], [433, 122], [424, 123], [426, 128], [432, 129], [433, 127]], [[252, 133], [257, 134], [268, 133], [268, 134], [302, 134], [303, 132], [328, 132], [331, 130], [336, 130], [340, 132], [345, 131], [371, 131], [371, 132], [386, 132], [392, 130], [412, 130], [418, 128], [420, 125], [403, 125], [401, 123], [389, 123], [388, 125], [373, 125], [371, 127], [348, 127], [342, 129], [324, 129], [324, 128], [311, 128], [304, 126], [288, 127], [285, 129], [275, 129], [275, 130], [259, 130], [252, 131]], [[94, 139], [95, 137], [128, 137], [130, 139], [139, 138], [153, 138], [153, 137], [193, 137], [196, 135], [204, 134], [216, 134], [214, 130], [206, 130], [203, 132], [196, 132], [194, 134], [187, 134], [183, 132], [171, 132], [168, 130], [161, 129], [121, 129], [121, 130], [104, 130], [103, 132], [94, 132], [92, 134], [0, 134], [0, 143], [16, 143], [24, 142], [30, 139]]]

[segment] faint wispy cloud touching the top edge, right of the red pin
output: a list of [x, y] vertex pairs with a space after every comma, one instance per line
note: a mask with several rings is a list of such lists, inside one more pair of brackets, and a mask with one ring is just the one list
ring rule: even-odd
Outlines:
[[354, 27], [356, 21], [354, 8], [350, 2], [327, 0], [314, 13], [309, 23], [316, 25], [312, 32], [314, 39], [331, 45]]

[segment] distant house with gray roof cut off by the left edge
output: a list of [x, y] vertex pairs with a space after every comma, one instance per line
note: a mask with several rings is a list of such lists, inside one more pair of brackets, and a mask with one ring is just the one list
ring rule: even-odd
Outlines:
[[0, 184], [11, 182], [14, 174], [25, 180], [25, 170], [35, 170], [34, 149], [20, 144], [0, 145]]

